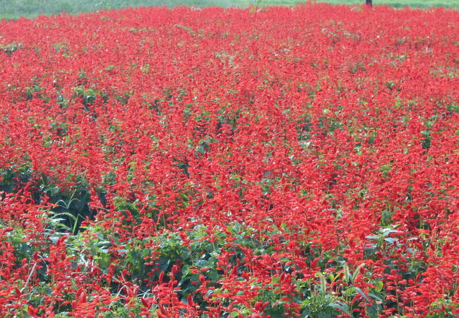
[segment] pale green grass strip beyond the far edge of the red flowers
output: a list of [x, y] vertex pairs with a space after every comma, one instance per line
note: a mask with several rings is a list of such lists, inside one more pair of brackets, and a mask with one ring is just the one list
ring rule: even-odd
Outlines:
[[[249, 6], [293, 5], [300, 0], [0, 0], [0, 18], [16, 19], [20, 16], [33, 18], [40, 14], [57, 14], [62, 12], [91, 12], [98, 9], [123, 8], [126, 6]], [[317, 0], [330, 4], [363, 4], [364, 0]], [[373, 0], [374, 5], [415, 8], [444, 6], [459, 9], [459, 0]]]

